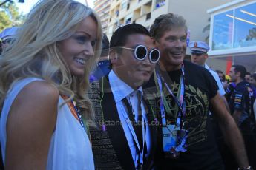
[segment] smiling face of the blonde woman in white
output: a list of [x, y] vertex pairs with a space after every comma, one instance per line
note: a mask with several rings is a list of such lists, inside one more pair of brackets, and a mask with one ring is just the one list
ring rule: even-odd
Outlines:
[[81, 22], [74, 35], [59, 42], [59, 51], [62, 53], [71, 75], [84, 75], [86, 61], [94, 55], [96, 30], [96, 21], [88, 16]]

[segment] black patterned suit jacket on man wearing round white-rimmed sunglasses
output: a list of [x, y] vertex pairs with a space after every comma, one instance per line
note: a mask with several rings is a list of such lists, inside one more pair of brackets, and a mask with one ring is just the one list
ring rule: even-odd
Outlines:
[[[119, 115], [114, 101], [114, 95], [108, 81], [108, 75], [91, 84], [88, 93], [96, 114], [96, 127], [90, 129], [93, 147], [93, 157], [96, 169], [135, 169], [128, 141], [122, 129]], [[151, 131], [151, 154], [143, 169], [154, 166], [153, 157], [157, 144], [157, 126], [154, 126], [154, 116], [148, 101], [143, 100], [148, 113]], [[106, 130], [102, 130], [102, 122], [106, 123]]]

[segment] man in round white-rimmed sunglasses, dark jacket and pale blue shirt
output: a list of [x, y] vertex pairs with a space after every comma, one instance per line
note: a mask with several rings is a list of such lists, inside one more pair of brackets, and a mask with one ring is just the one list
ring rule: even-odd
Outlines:
[[119, 27], [110, 42], [111, 72], [91, 84], [96, 112], [91, 129], [96, 169], [151, 169], [157, 122], [143, 99], [160, 51], [140, 24]]

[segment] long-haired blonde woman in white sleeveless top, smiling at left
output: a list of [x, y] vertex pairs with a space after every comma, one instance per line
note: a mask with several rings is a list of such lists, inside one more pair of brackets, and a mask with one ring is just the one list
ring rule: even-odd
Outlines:
[[82, 117], [93, 120], [84, 94], [101, 41], [98, 16], [79, 2], [43, 0], [31, 10], [0, 64], [6, 169], [94, 169]]

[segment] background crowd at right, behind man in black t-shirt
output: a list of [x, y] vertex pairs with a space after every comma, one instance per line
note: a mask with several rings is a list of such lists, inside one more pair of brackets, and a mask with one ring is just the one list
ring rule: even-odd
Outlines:
[[[253, 105], [256, 102], [256, 86], [252, 81], [253, 74], [251, 75], [250, 72], [246, 72], [246, 68], [242, 65], [233, 65], [229, 71], [229, 79], [226, 80], [226, 76], [223, 75], [222, 71], [216, 70], [215, 72], [207, 66], [206, 59], [208, 58], [207, 51], [209, 50], [209, 47], [205, 42], [192, 41], [189, 44], [189, 47], [191, 50], [191, 62], [208, 69], [217, 82], [219, 88], [218, 92], [222, 95], [223, 102], [226, 103], [226, 108], [234, 118], [243, 135], [249, 163], [252, 167], [256, 167], [256, 119], [254, 114], [256, 110], [253, 108]], [[254, 75], [256, 75], [256, 73], [254, 73]], [[229, 81], [229, 83], [226, 81]], [[216, 123], [214, 118], [212, 120], [212, 123]], [[226, 169], [235, 169], [237, 164], [233, 161], [234, 157], [230, 154], [227, 146], [223, 144], [223, 135], [220, 135], [220, 129], [216, 128], [215, 124], [213, 127]]]

